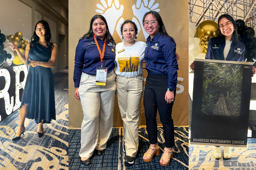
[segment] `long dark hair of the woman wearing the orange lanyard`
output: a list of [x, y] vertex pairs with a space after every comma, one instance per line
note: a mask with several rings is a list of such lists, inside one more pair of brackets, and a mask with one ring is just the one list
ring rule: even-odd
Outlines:
[[109, 29], [108, 29], [107, 21], [106, 21], [106, 19], [104, 18], [104, 16], [102, 16], [102, 15], [94, 15], [94, 16], [92, 17], [92, 19], [91, 19], [91, 21], [90, 21], [90, 29], [89, 29], [89, 31], [88, 31], [87, 33], [85, 33], [85, 34], [83, 35], [83, 37], [81, 37], [80, 39], [83, 39], [83, 38], [90, 38], [90, 37], [93, 36], [93, 34], [91, 33], [91, 31], [93, 31], [93, 30], [92, 30], [92, 25], [93, 25], [93, 21], [94, 21], [95, 19], [97, 19], [97, 18], [102, 19], [103, 22], [106, 24], [106, 28], [107, 28], [107, 33], [105, 33], [106, 41], [109, 41], [109, 42], [111, 42], [111, 43], [114, 43], [114, 39], [113, 39], [112, 35], [110, 34]]

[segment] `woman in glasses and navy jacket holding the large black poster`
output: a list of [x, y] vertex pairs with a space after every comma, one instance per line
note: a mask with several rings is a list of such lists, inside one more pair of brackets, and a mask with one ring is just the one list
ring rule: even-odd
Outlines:
[[[237, 24], [232, 16], [223, 14], [218, 18], [218, 35], [210, 39], [205, 59], [243, 61], [245, 45], [238, 40]], [[190, 65], [194, 70], [194, 62]], [[253, 67], [252, 76], [255, 74]], [[213, 156], [216, 159], [222, 157], [221, 147], [215, 146]], [[232, 156], [231, 148], [224, 146], [224, 158]]]

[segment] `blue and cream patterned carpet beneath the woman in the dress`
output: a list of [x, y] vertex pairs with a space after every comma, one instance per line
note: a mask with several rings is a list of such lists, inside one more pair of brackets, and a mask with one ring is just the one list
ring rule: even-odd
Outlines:
[[68, 169], [68, 70], [54, 75], [56, 121], [44, 124], [44, 135], [37, 136], [38, 125], [26, 119], [22, 139], [12, 141], [19, 123], [19, 110], [0, 122], [1, 170]]

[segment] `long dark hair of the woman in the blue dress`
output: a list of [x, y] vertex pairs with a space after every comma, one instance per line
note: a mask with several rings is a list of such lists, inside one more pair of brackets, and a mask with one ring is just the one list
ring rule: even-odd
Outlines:
[[[52, 44], [50, 43], [50, 40], [51, 40], [51, 30], [50, 30], [48, 22], [46, 22], [45, 20], [41, 20], [41, 21], [37, 22], [37, 24], [35, 26], [35, 30], [34, 30], [33, 36], [31, 37], [31, 42], [29, 44], [29, 47], [33, 48], [35, 43], [37, 43], [39, 41], [39, 36], [36, 33], [37, 25], [39, 23], [43, 24], [43, 27], [44, 27], [44, 30], [45, 30], [44, 40], [46, 41], [46, 44], [47, 44], [47, 47], [48, 47], [48, 51], [50, 52], [52, 50]], [[32, 39], [34, 39], [34, 40], [32, 41]]]

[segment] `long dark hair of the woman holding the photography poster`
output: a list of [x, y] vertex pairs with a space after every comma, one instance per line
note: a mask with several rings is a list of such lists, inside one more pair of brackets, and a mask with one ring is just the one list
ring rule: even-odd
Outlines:
[[220, 15], [219, 16], [219, 19], [218, 19], [218, 35], [220, 38], [221, 41], [225, 41], [225, 35], [221, 34], [221, 31], [220, 31], [220, 28], [219, 28], [219, 21], [221, 18], [226, 18], [228, 20], [230, 20], [234, 26], [234, 31], [233, 31], [233, 34], [232, 34], [232, 37], [231, 37], [231, 40], [237, 44], [238, 43], [238, 35], [237, 35], [237, 23], [235, 23], [235, 20], [233, 19], [233, 17], [231, 15], [228, 15], [228, 14], [223, 14], [223, 15]]

